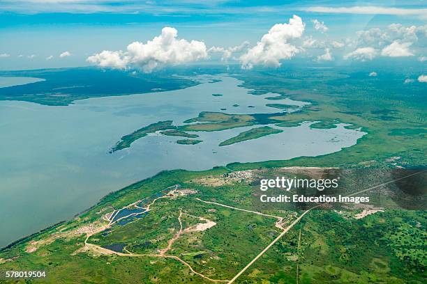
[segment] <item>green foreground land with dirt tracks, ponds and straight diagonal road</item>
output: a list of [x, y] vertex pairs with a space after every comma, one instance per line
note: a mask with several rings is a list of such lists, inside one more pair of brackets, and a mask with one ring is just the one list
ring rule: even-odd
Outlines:
[[0, 270], [46, 271], [50, 283], [424, 283], [426, 213], [396, 207], [396, 189], [372, 186], [392, 170], [380, 181], [377, 170], [340, 175], [340, 194], [364, 191], [382, 207], [255, 201], [260, 178], [330, 169], [164, 171], [1, 249]]

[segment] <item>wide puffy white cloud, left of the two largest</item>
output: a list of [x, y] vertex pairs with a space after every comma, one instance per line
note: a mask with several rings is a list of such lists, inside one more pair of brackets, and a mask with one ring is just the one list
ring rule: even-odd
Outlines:
[[132, 42], [126, 52], [104, 50], [89, 56], [87, 61], [104, 68], [124, 69], [129, 65], [152, 72], [163, 65], [178, 65], [207, 58], [204, 42], [178, 39], [177, 29], [165, 27], [160, 36], [147, 43]]

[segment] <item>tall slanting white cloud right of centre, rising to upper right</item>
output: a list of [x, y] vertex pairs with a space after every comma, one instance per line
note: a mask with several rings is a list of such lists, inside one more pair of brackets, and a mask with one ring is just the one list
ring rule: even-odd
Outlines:
[[288, 41], [301, 38], [305, 27], [306, 25], [297, 15], [289, 19], [289, 24], [275, 24], [262, 36], [255, 47], [240, 56], [242, 68], [250, 69], [253, 65], [279, 67], [280, 60], [292, 58], [299, 52], [299, 49]]

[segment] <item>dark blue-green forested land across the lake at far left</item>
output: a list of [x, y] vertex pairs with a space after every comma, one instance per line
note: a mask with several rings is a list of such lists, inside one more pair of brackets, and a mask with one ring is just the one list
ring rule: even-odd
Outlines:
[[[179, 73], [180, 70], [171, 70]], [[61, 68], [24, 71], [0, 71], [4, 77], [45, 79], [33, 84], [0, 88], [0, 100], [20, 100], [50, 106], [66, 106], [89, 97], [108, 97], [179, 90], [198, 83], [171, 72], [144, 74], [97, 68]]]

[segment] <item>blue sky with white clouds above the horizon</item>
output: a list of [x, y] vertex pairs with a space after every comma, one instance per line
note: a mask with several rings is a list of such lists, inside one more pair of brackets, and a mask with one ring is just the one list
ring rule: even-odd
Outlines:
[[0, 70], [422, 64], [426, 43], [420, 0], [0, 0]]

